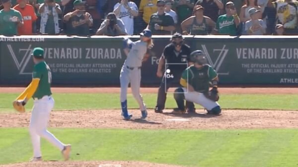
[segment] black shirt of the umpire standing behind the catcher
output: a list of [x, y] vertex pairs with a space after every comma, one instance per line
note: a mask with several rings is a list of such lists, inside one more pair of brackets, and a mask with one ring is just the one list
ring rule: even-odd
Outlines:
[[[174, 44], [167, 45], [163, 50], [166, 69], [171, 70], [173, 75], [181, 75], [182, 71], [187, 68], [187, 62], [190, 59], [190, 47], [186, 44], [181, 46], [180, 52], [175, 50]], [[177, 63], [177, 64], [168, 64]]]

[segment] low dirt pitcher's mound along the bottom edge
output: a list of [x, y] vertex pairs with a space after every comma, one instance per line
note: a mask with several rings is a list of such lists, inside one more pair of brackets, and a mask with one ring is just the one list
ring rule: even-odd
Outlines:
[[[114, 165], [114, 166], [112, 166]], [[118, 165], [118, 166], [117, 166]], [[119, 166], [121, 165], [121, 166]], [[145, 162], [119, 161], [119, 162], [36, 162], [0, 165], [0, 167], [182, 167]]]

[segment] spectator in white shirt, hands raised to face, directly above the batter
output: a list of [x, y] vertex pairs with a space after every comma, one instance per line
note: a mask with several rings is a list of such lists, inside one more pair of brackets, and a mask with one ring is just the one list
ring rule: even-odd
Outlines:
[[114, 13], [124, 23], [128, 35], [134, 34], [134, 17], [139, 15], [136, 3], [128, 0], [121, 0], [121, 3], [116, 3]]

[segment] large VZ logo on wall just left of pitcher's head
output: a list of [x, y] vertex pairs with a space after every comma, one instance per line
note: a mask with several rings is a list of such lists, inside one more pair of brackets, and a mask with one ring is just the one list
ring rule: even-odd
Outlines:
[[[17, 53], [13, 51], [13, 48], [10, 44], [7, 44], [7, 49], [12, 56], [12, 59], [19, 70], [20, 75], [26, 75], [26, 74], [32, 74], [32, 72], [24, 72], [25, 67], [27, 66], [30, 58], [31, 58], [31, 53], [32, 53], [32, 48], [31, 45], [27, 49], [19, 49]], [[17, 56], [21, 55], [21, 56]], [[18, 57], [22, 57], [21, 61], [18, 60]]]

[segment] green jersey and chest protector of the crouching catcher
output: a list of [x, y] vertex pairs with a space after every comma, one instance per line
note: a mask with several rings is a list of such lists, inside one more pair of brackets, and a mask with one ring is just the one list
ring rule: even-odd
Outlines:
[[191, 65], [182, 73], [182, 79], [193, 86], [196, 92], [209, 91], [209, 82], [217, 76], [217, 72], [208, 64], [203, 65], [201, 69]]

